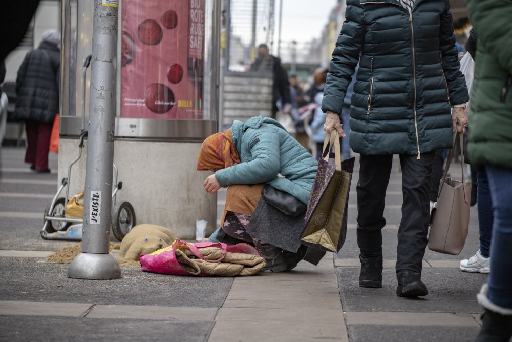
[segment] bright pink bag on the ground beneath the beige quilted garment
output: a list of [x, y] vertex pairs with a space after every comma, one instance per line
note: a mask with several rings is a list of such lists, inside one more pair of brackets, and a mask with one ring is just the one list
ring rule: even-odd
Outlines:
[[[206, 247], [215, 247], [221, 249], [222, 257], [217, 260], [205, 259], [203, 254], [201, 254], [201, 252], [199, 251], [199, 248]], [[141, 270], [145, 272], [154, 272], [160, 274], [190, 275], [190, 273], [185, 271], [182, 265], [178, 262], [178, 259], [176, 257], [177, 249], [188, 249], [192, 253], [194, 253], [196, 257], [198, 257], [201, 260], [207, 261], [208, 263], [218, 263], [226, 256], [226, 252], [245, 253], [261, 256], [260, 252], [258, 252], [257, 249], [246, 243], [226, 245], [224, 243], [199, 242], [193, 244], [177, 239], [169, 247], [159, 249], [158, 251], [155, 251], [151, 254], [141, 255], [139, 257]]]

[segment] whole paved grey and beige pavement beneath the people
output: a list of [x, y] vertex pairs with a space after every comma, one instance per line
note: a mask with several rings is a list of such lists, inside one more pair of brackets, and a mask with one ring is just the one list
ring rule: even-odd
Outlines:
[[[479, 329], [475, 295], [486, 275], [458, 269], [478, 249], [476, 207], [460, 256], [427, 251], [429, 295], [395, 295], [400, 219], [398, 163], [387, 192], [382, 289], [358, 286], [355, 240], [357, 170], [347, 241], [314, 267], [289, 273], [195, 278], [122, 267], [122, 279], [69, 279], [69, 265], [45, 263], [69, 242], [43, 240], [42, 212], [57, 176], [34, 174], [24, 149], [0, 150], [0, 341], [472, 341]], [[57, 169], [51, 154], [50, 169]], [[460, 167], [454, 167], [454, 176]], [[222, 209], [225, 193], [218, 196]]]

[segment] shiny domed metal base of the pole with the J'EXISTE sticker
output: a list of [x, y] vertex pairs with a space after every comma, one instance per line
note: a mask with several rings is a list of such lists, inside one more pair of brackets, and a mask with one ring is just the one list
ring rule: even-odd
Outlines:
[[68, 278], [119, 279], [121, 267], [116, 258], [108, 253], [80, 253], [68, 268]]

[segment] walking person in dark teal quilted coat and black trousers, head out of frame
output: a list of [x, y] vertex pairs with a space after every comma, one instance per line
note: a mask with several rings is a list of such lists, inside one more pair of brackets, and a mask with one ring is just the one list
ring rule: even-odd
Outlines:
[[[428, 294], [421, 281], [427, 245], [434, 151], [451, 148], [467, 123], [447, 0], [348, 0], [324, 90], [324, 129], [345, 136], [340, 113], [359, 62], [350, 107], [350, 147], [360, 154], [357, 183], [359, 286], [382, 287], [382, 233], [393, 154], [402, 170], [397, 296]], [[451, 115], [451, 106], [454, 106]]]

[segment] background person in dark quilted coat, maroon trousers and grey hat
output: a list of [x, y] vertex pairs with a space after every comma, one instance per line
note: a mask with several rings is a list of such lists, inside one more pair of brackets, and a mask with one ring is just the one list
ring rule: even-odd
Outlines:
[[25, 56], [16, 78], [14, 117], [25, 120], [25, 163], [36, 172], [47, 173], [50, 135], [59, 111], [60, 33], [47, 30], [39, 47]]

